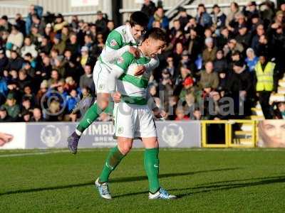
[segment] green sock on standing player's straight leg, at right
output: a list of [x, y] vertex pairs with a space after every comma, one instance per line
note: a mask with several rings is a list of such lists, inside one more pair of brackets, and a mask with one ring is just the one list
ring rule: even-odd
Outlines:
[[158, 152], [158, 148], [145, 149], [145, 171], [147, 172], [150, 192], [153, 194], [160, 189], [158, 180], [160, 160], [158, 159]]

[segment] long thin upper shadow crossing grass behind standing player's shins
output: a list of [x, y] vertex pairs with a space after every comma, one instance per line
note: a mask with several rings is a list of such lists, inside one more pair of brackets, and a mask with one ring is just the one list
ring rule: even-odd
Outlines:
[[[228, 171], [228, 170], [239, 170], [241, 168], [222, 168], [222, 169], [214, 169], [214, 170], [201, 170], [196, 172], [187, 172], [187, 173], [167, 173], [167, 174], [161, 174], [160, 178], [171, 178], [171, 177], [177, 177], [177, 176], [187, 176], [187, 175], [195, 175], [199, 173], [212, 173], [212, 172], [222, 172], [222, 171]], [[125, 178], [113, 178], [110, 180], [110, 182], [135, 182], [135, 181], [142, 181], [147, 180], [147, 176], [134, 176], [134, 177], [125, 177]], [[60, 186], [54, 186], [54, 187], [39, 187], [39, 188], [33, 188], [33, 189], [27, 189], [27, 190], [14, 190], [9, 192], [2, 192], [0, 193], [0, 196], [2, 195], [12, 195], [12, 194], [19, 194], [19, 193], [28, 193], [28, 192], [41, 192], [45, 190], [63, 190], [68, 189], [72, 187], [85, 187], [88, 185], [94, 185], [94, 182], [83, 182], [78, 184], [72, 184], [72, 185], [60, 185]], [[138, 192], [134, 193], [133, 195], [138, 195], [145, 192]], [[130, 194], [132, 195], [132, 194]], [[125, 195], [127, 196], [127, 195]], [[119, 197], [119, 196], [118, 196]], [[122, 196], [120, 196], [122, 197]]]

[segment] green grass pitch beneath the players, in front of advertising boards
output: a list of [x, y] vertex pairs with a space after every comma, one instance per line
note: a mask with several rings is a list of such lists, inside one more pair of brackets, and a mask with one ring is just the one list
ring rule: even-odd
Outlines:
[[[44, 154], [38, 154], [44, 153]], [[0, 151], [0, 212], [284, 212], [285, 150], [162, 149], [160, 183], [177, 200], [148, 200], [143, 151], [93, 185], [108, 150]]]

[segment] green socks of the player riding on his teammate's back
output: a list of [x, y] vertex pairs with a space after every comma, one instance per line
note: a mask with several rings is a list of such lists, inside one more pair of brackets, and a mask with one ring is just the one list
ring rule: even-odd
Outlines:
[[[104, 110], [105, 113], [112, 114], [113, 113], [113, 107], [114, 103], [109, 102], [108, 107]], [[102, 109], [98, 107], [98, 104], [93, 104], [87, 111], [86, 114], [83, 116], [83, 119], [81, 119], [80, 123], [76, 127], [76, 133], [83, 133], [84, 130], [90, 126], [93, 121], [98, 119], [100, 114], [102, 113]], [[79, 132], [78, 132], [79, 131]]]

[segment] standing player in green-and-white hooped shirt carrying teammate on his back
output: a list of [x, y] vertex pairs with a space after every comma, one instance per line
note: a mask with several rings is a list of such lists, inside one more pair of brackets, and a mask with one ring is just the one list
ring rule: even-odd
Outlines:
[[[129, 52], [124, 53], [117, 62], [116, 70], [124, 72], [117, 80], [119, 103], [115, 103], [115, 136], [118, 137], [118, 146], [112, 148], [104, 163], [99, 178], [95, 181], [100, 196], [111, 199], [108, 189], [110, 173], [128, 154], [133, 146], [134, 138], [141, 138], [145, 146], [145, 170], [149, 181], [149, 199], [174, 199], [166, 190], [160, 187], [158, 180], [159, 159], [158, 142], [155, 122], [147, 106], [147, 84], [152, 70], [146, 70], [140, 77], [135, 76], [135, 67], [150, 62], [165, 47], [166, 34], [160, 28], [152, 28], [144, 36], [142, 45], [138, 47], [140, 57], [135, 58]], [[115, 99], [118, 102], [118, 99]]]

